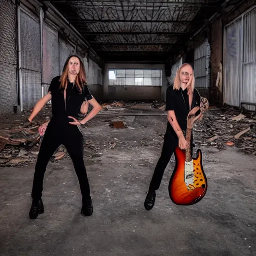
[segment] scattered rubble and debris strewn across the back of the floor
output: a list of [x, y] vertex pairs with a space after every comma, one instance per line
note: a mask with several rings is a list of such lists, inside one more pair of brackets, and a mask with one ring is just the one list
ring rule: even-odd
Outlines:
[[[145, 103], [145, 109], [150, 106], [163, 107], [160, 101], [154, 101], [152, 103]], [[112, 102], [113, 103], [113, 102]], [[124, 103], [123, 103], [124, 104]], [[125, 101], [125, 106], [138, 104], [135, 101]], [[142, 103], [141, 103], [142, 104]], [[146, 108], [147, 107], [147, 108]], [[154, 107], [154, 108], [155, 108]], [[141, 108], [142, 109], [142, 108]], [[116, 111], [123, 112], [123, 108], [118, 108]], [[126, 109], [134, 113], [145, 112], [148, 110], [134, 110]], [[151, 108], [151, 111], [159, 111]], [[51, 116], [51, 109], [46, 108], [36, 117], [36, 122], [29, 124], [26, 120], [30, 112], [24, 112], [22, 114], [9, 114], [0, 116], [0, 166], [26, 166], [31, 163], [35, 163], [38, 152], [40, 149], [40, 143], [42, 137], [38, 133], [38, 127]], [[103, 119], [102, 119], [103, 118]], [[127, 117], [127, 118], [115, 118], [108, 119], [109, 117], [101, 116], [88, 122], [88, 125], [84, 127], [91, 129], [93, 127], [99, 127], [102, 125], [102, 131], [100, 131], [106, 139], [102, 137], [93, 137], [92, 135], [86, 137], [84, 140], [84, 154], [86, 158], [99, 157], [105, 150], [119, 150], [121, 148], [133, 148], [134, 146], [150, 146], [161, 147], [164, 139], [165, 123], [167, 123], [166, 116], [157, 117]], [[145, 118], [149, 122], [141, 122]], [[158, 119], [159, 118], [159, 119]], [[129, 120], [133, 120], [130, 122]], [[139, 121], [140, 120], [140, 121]], [[100, 124], [100, 121], [102, 124]], [[103, 124], [108, 122], [108, 124]], [[160, 127], [157, 123], [161, 123]], [[151, 126], [152, 124], [152, 126]], [[113, 129], [112, 132], [106, 127]], [[111, 134], [124, 134], [126, 130], [124, 127], [131, 127], [134, 130], [132, 135], [134, 138], [131, 140], [128, 137], [124, 137], [122, 140], [118, 140], [111, 137]], [[121, 128], [120, 128], [121, 127]], [[145, 131], [145, 128], [147, 131]], [[217, 109], [210, 107], [204, 114], [202, 121], [195, 123], [193, 128], [194, 144], [197, 148], [200, 147], [215, 147], [218, 149], [224, 149], [226, 147], [237, 147], [240, 151], [256, 155], [256, 113], [248, 114], [247, 112], [240, 112], [235, 109]], [[127, 134], [131, 128], [127, 129]], [[151, 133], [150, 133], [151, 132]], [[158, 134], [159, 133], [159, 134]], [[131, 133], [129, 133], [131, 134]], [[137, 135], [136, 135], [137, 134]], [[137, 136], [141, 137], [141, 144], [136, 144], [138, 141]], [[157, 139], [146, 139], [144, 134], [158, 134]], [[115, 135], [116, 136], [116, 135]], [[124, 135], [123, 135], [124, 136]], [[153, 136], [153, 135], [152, 135]], [[93, 141], [91, 140], [93, 139]], [[122, 149], [121, 149], [122, 150]], [[68, 159], [69, 155], [64, 146], [60, 146], [54, 155], [51, 157], [51, 161]]]

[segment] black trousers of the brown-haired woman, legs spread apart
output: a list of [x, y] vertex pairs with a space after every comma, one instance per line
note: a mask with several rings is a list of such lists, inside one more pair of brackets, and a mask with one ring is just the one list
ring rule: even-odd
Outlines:
[[35, 165], [32, 188], [33, 199], [41, 198], [46, 166], [50, 157], [61, 144], [66, 147], [67, 152], [73, 161], [74, 169], [80, 184], [82, 199], [90, 199], [89, 181], [83, 161], [83, 140], [83, 135], [77, 126], [71, 125], [67, 121], [50, 121], [45, 131]]

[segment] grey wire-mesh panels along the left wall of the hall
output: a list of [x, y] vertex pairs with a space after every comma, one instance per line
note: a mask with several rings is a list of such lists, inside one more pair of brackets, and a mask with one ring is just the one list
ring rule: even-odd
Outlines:
[[[47, 18], [41, 24], [39, 12], [20, 7], [17, 15], [16, 9], [15, 0], [0, 0], [0, 114], [13, 112], [13, 106], [21, 103], [23, 110], [31, 109], [41, 98], [42, 88], [45, 95], [51, 80], [61, 74], [66, 59], [74, 53], [74, 47]], [[18, 72], [18, 45], [21, 72]], [[86, 70], [89, 84], [102, 83], [99, 67], [94, 62], [90, 65]]]

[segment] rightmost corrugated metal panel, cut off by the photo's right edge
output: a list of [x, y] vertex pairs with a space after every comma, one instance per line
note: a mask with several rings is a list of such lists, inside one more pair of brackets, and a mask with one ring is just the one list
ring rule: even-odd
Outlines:
[[[244, 15], [242, 102], [256, 103], [256, 8]], [[249, 110], [253, 106], [245, 106]]]

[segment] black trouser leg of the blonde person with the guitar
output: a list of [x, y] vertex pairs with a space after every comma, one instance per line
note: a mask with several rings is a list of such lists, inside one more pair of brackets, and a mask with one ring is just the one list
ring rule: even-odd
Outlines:
[[[191, 137], [191, 152], [193, 147], [192, 140], [193, 139]], [[170, 158], [177, 146], [178, 146], [178, 137], [173, 134], [165, 134], [161, 156], [154, 169], [153, 177], [151, 179], [150, 186], [149, 186], [149, 191], [159, 189], [164, 170], [166, 169], [170, 161]]]

